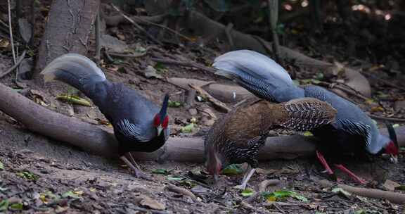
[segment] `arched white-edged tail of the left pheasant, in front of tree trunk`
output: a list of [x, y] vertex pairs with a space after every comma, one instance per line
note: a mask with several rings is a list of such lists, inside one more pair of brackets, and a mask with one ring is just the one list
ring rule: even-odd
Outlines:
[[96, 105], [106, 96], [110, 85], [96, 63], [77, 53], [59, 56], [49, 63], [41, 74], [46, 82], [58, 80], [79, 89]]

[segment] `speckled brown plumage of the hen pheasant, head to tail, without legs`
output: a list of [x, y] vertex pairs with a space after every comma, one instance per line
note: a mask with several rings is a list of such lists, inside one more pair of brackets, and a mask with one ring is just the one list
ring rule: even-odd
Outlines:
[[257, 167], [257, 153], [273, 127], [305, 131], [328, 124], [336, 111], [318, 99], [285, 103], [259, 100], [233, 109], [217, 120], [205, 139], [206, 165], [212, 175], [232, 163]]

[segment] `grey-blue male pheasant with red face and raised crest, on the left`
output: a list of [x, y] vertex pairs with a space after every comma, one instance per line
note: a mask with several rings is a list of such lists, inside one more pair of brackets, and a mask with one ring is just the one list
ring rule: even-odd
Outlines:
[[120, 143], [120, 158], [135, 171], [136, 177], [148, 178], [130, 152], [153, 152], [165, 144], [169, 137], [169, 96], [165, 96], [159, 108], [124, 84], [108, 81], [96, 63], [75, 53], [59, 56], [41, 74], [46, 81], [65, 82], [88, 96], [113, 125]]

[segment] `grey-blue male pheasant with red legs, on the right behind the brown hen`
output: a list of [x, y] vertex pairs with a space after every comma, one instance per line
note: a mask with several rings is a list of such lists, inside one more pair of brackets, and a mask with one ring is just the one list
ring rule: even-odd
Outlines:
[[[231, 51], [217, 57], [213, 66], [219, 69], [219, 75], [234, 80], [262, 99], [283, 102], [313, 97], [330, 103], [338, 111], [336, 120], [330, 125], [312, 130], [314, 135], [323, 141], [316, 154], [330, 175], [333, 175], [333, 171], [322, 153], [335, 160], [343, 153], [355, 153], [359, 156], [387, 153], [390, 154], [392, 162], [397, 162], [398, 145], [380, 134], [371, 118], [358, 106], [322, 87], [296, 87], [287, 71], [261, 53], [248, 50]], [[342, 164], [335, 166], [354, 180], [364, 183]]]

